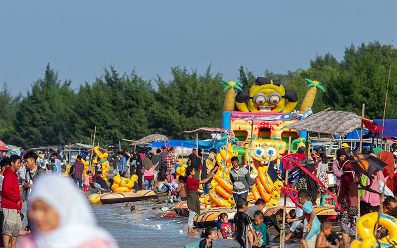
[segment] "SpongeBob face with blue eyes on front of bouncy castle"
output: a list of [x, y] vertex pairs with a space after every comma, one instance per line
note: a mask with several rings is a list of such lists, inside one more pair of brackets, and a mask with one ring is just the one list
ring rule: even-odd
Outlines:
[[[258, 174], [257, 168], [264, 166], [270, 161], [274, 161], [280, 157], [280, 154], [287, 149], [287, 143], [281, 140], [272, 139], [253, 139], [252, 150], [250, 158], [250, 144], [245, 144], [245, 164], [248, 165], [251, 161], [254, 166], [253, 174]], [[252, 165], [251, 163], [251, 165]]]

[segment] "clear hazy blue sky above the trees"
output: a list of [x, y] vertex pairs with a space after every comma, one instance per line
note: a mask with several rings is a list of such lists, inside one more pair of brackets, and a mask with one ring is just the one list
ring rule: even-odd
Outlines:
[[[308, 68], [346, 47], [396, 43], [397, 1], [0, 1], [0, 84], [26, 95], [47, 63], [77, 89], [113, 65], [144, 79], [171, 67], [263, 75]], [[394, 44], [396, 45], [396, 44]], [[0, 86], [1, 89], [1, 86]]]

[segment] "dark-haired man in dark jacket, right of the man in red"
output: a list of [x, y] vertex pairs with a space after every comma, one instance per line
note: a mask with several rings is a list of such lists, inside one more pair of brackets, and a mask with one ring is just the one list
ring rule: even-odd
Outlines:
[[41, 175], [46, 174], [43, 168], [37, 166], [36, 164], [37, 157], [38, 157], [37, 154], [31, 150], [27, 151], [23, 156], [23, 159], [25, 160], [25, 164], [28, 167], [26, 171], [26, 180], [25, 183], [23, 184], [23, 190], [21, 193], [21, 198], [23, 201], [29, 199], [29, 195], [30, 192], [32, 191], [33, 183], [37, 180], [37, 178]]

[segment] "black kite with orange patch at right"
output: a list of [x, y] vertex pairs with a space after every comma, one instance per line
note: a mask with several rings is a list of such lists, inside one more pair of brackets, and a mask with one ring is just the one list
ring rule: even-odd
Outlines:
[[354, 171], [358, 174], [364, 174], [371, 178], [371, 175], [383, 171], [387, 164], [382, 160], [370, 154], [361, 154], [358, 149], [353, 152], [353, 156], [349, 159]]

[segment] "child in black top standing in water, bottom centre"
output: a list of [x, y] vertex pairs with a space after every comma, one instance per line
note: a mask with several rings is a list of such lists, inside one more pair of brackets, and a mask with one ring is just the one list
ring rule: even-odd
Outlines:
[[251, 230], [253, 242], [251, 246], [258, 245], [257, 234], [252, 227], [250, 217], [245, 213], [248, 209], [248, 202], [244, 198], [237, 201], [237, 213], [234, 215], [233, 233], [234, 239], [240, 244], [241, 248], [248, 248], [248, 230]]

